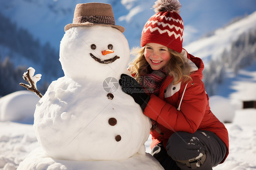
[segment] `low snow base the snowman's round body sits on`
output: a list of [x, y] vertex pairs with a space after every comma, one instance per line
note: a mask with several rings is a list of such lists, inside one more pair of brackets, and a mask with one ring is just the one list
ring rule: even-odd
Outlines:
[[[150, 162], [150, 164], [148, 164]], [[155, 158], [146, 153], [125, 160], [72, 161], [52, 159], [39, 147], [33, 150], [17, 170], [164, 170]]]

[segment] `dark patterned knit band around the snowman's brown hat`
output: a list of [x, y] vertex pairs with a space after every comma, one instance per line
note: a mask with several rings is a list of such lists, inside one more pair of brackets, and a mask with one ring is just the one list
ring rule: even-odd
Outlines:
[[73, 20], [73, 24], [82, 24], [85, 22], [115, 25], [115, 19], [112, 16], [80, 16]]

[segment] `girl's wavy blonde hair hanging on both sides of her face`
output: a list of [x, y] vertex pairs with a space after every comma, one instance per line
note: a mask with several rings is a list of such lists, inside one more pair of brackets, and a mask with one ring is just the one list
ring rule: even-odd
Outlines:
[[[141, 78], [153, 70], [151, 69], [150, 65], [148, 64], [147, 60], [144, 56], [145, 47], [142, 48], [133, 48], [131, 50], [131, 54], [135, 55], [136, 58], [129, 63], [129, 70], [131, 74], [135, 75], [134, 78], [141, 82]], [[191, 74], [191, 66], [187, 62], [186, 58], [181, 55], [179, 52], [169, 49], [169, 53], [171, 55], [171, 59], [169, 62], [164, 66], [165, 71], [168, 75], [173, 76], [173, 84], [177, 84], [180, 81], [189, 82], [192, 80], [190, 77]]]

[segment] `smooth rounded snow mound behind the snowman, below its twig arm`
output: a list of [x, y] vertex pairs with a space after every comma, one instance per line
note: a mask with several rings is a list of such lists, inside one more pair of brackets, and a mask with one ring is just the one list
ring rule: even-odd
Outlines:
[[31, 91], [21, 90], [0, 98], [0, 121], [33, 124], [36, 104], [40, 98]]

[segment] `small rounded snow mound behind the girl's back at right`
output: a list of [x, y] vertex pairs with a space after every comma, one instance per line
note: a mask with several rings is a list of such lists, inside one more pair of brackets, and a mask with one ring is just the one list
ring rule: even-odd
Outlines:
[[230, 100], [219, 95], [214, 95], [210, 97], [209, 103], [210, 110], [221, 122], [233, 122], [235, 109], [230, 104]]

